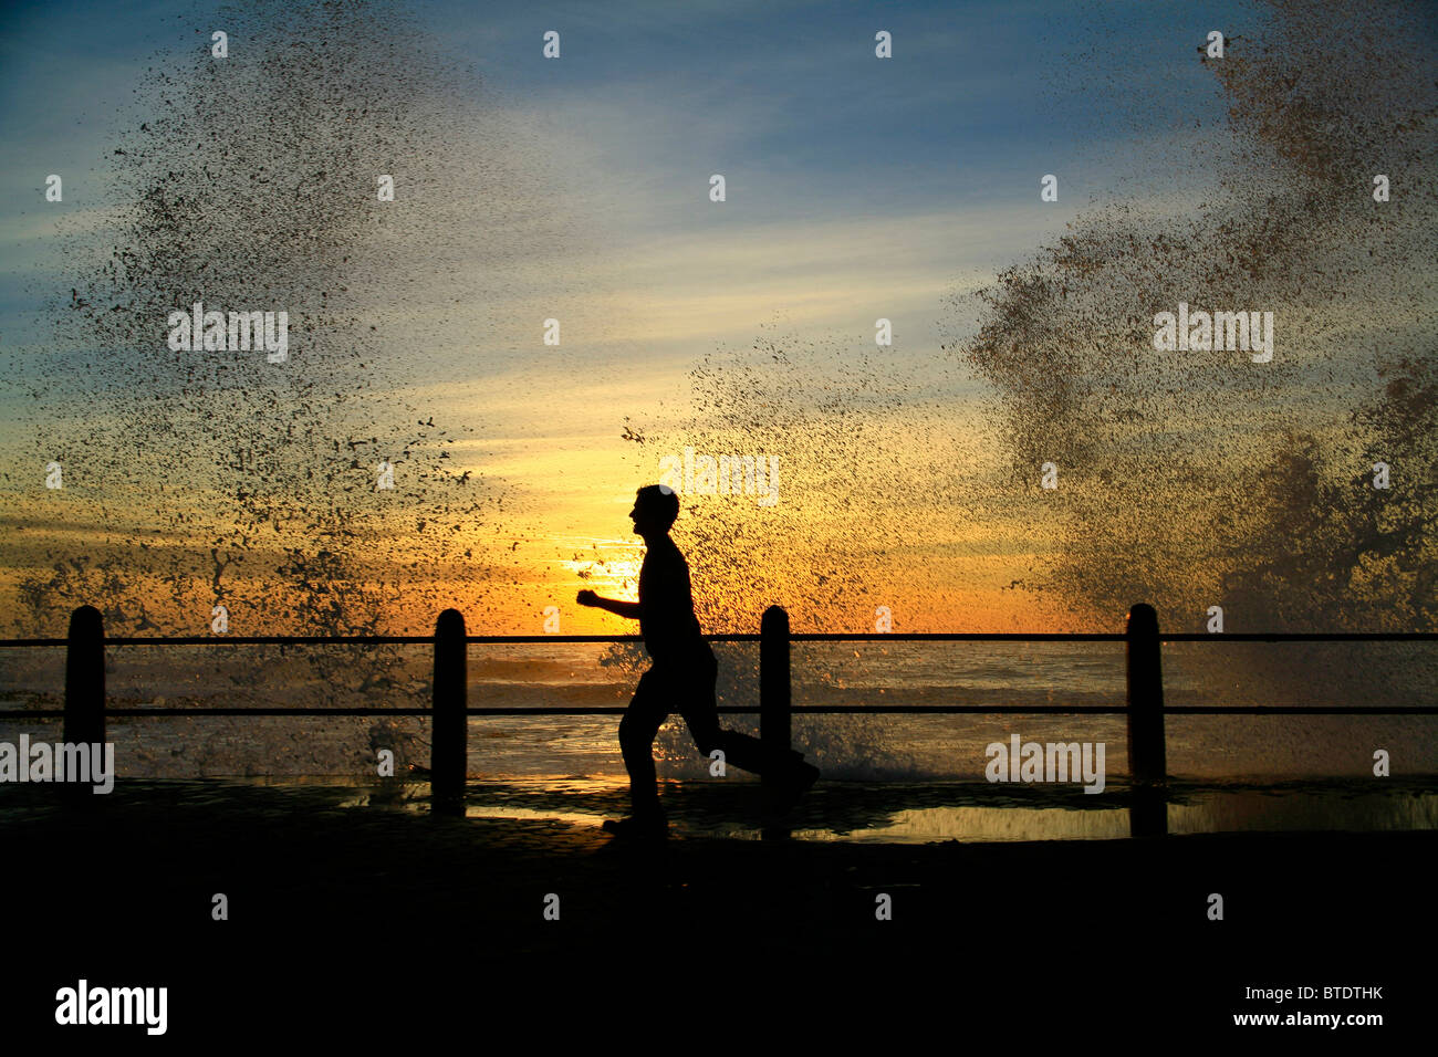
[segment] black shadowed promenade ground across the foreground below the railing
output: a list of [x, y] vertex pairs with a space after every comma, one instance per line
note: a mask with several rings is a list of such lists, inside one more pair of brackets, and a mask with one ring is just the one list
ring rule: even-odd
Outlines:
[[[1431, 1041], [1438, 1008], [1432, 831], [649, 850], [339, 808], [332, 790], [155, 784], [63, 807], [53, 788], [0, 797], [6, 1043], [607, 1051], [633, 1030], [646, 1051], [1126, 1053], [1251, 1033], [1356, 1051]], [[82, 976], [167, 987], [165, 1037], [55, 1025]], [[1301, 987], [1317, 997], [1245, 998]], [[1235, 1027], [1242, 1012], [1385, 1022]]]

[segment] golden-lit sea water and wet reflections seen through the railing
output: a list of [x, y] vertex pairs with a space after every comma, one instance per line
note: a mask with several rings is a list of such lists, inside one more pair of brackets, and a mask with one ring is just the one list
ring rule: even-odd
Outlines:
[[[758, 705], [758, 647], [718, 643], [720, 709]], [[426, 708], [431, 659], [423, 646], [109, 647], [111, 708]], [[1431, 643], [1171, 643], [1168, 706], [1432, 705]], [[473, 644], [472, 708], [623, 708], [646, 666], [636, 644]], [[0, 708], [58, 709], [63, 651], [0, 651]], [[797, 713], [794, 745], [824, 781], [788, 820], [815, 840], [1032, 840], [1123, 837], [1126, 719], [1064, 713], [1122, 709], [1122, 643], [795, 643], [792, 702], [899, 705], [916, 713]], [[946, 705], [1032, 713], [925, 715]], [[0, 741], [52, 736], [53, 720], [0, 720]], [[617, 715], [476, 716], [469, 723], [470, 814], [598, 823], [626, 808]], [[723, 723], [758, 731], [758, 715]], [[1438, 718], [1382, 715], [1169, 715], [1173, 833], [1284, 828], [1435, 828]], [[1104, 792], [1078, 782], [995, 784], [986, 748], [1024, 742], [1106, 746]], [[118, 782], [240, 777], [351, 785], [357, 805], [427, 810], [424, 716], [184, 716], [109, 719]], [[394, 755], [394, 778], [380, 754]], [[1386, 752], [1391, 774], [1375, 774]], [[758, 837], [754, 779], [715, 774], [674, 715], [654, 755], [677, 831]]]

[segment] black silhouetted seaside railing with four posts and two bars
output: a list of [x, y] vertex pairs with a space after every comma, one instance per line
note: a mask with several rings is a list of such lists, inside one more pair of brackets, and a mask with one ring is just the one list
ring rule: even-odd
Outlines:
[[[1152, 605], [1129, 610], [1122, 634], [1106, 633], [800, 633], [789, 631], [789, 617], [778, 605], [765, 610], [759, 634], [710, 634], [707, 641], [759, 643], [759, 706], [723, 708], [723, 715], [759, 713], [759, 739], [766, 751], [788, 751], [794, 713], [905, 713], [905, 715], [1125, 715], [1127, 716], [1130, 830], [1133, 836], [1168, 833], [1168, 764], [1165, 715], [1438, 715], [1438, 706], [1406, 705], [1353, 706], [1178, 706], [1163, 705], [1162, 643], [1291, 643], [1291, 641], [1434, 641], [1434, 633], [1240, 633], [1160, 634]], [[591, 716], [623, 715], [623, 706], [569, 708], [470, 708], [467, 702], [467, 646], [512, 643], [638, 643], [640, 636], [470, 636], [459, 610], [444, 610], [433, 636], [190, 636], [190, 637], [105, 637], [104, 618], [92, 605], [70, 614], [66, 639], [6, 639], [0, 647], [65, 647], [65, 741], [105, 741], [108, 716], [430, 716], [433, 739], [430, 772], [434, 804], [441, 811], [463, 811], [467, 774], [469, 716]], [[1123, 708], [1091, 705], [805, 705], [791, 702], [789, 646], [792, 643], [850, 641], [1015, 641], [1015, 643], [1125, 643], [1127, 699]], [[105, 646], [332, 646], [332, 644], [431, 644], [434, 647], [433, 702], [430, 708], [105, 708]], [[55, 719], [53, 709], [0, 709], [0, 719]], [[768, 781], [765, 779], [768, 785]]]

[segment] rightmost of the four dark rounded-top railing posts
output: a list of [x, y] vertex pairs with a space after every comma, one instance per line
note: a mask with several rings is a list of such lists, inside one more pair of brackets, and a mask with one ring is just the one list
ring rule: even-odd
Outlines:
[[1129, 831], [1135, 837], [1168, 833], [1168, 751], [1163, 735], [1163, 667], [1159, 616], [1139, 603], [1125, 630], [1129, 659]]

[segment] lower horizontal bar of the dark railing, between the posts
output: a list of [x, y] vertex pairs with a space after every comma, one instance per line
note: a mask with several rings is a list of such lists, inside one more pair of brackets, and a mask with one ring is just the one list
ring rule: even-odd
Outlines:
[[[565, 708], [538, 706], [531, 709], [519, 708], [469, 708], [470, 716], [621, 716], [627, 710], [623, 705], [594, 705]], [[820, 716], [838, 715], [1067, 715], [1067, 716], [1122, 716], [1127, 708], [1110, 708], [1106, 705], [795, 705], [789, 709], [794, 713], [808, 713]], [[722, 716], [754, 716], [759, 713], [758, 706], [718, 709]], [[1165, 708], [1168, 715], [1186, 716], [1438, 716], [1438, 705], [1403, 705], [1398, 708], [1347, 708], [1342, 705], [1314, 706], [1284, 706], [1284, 705], [1234, 705], [1234, 706], [1204, 706], [1179, 705]], [[361, 708], [361, 709], [305, 709], [305, 708], [214, 708], [214, 709], [105, 709], [106, 716], [433, 716], [434, 710], [427, 708]], [[4, 709], [0, 719], [63, 719], [60, 709]]]

